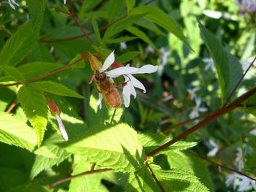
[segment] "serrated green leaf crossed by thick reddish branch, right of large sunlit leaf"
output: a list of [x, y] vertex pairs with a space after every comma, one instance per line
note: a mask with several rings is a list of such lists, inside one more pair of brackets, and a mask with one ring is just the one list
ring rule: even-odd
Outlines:
[[[166, 142], [169, 142], [172, 138], [164, 134], [139, 134], [139, 139], [145, 153], [149, 153], [157, 149], [157, 147], [164, 145]], [[197, 145], [197, 142], [178, 141], [165, 150], [162, 150], [160, 153], [167, 153], [170, 150], [185, 150], [195, 145]]]

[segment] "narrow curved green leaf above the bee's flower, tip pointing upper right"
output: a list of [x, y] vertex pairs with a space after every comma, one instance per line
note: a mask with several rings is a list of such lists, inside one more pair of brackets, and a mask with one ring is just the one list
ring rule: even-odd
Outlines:
[[108, 30], [105, 32], [103, 37], [103, 42], [106, 42], [110, 37], [117, 34], [120, 31], [123, 31], [127, 26], [131, 26], [133, 23], [137, 22], [143, 18], [143, 14], [129, 15], [129, 17], [118, 20], [113, 26], [110, 26]]

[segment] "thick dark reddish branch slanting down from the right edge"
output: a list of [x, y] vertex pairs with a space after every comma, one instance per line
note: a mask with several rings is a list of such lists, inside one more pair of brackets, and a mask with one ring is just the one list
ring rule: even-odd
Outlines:
[[234, 110], [239, 104], [241, 104], [245, 99], [249, 98], [249, 96], [252, 96], [254, 93], [256, 93], [256, 87], [244, 93], [244, 95], [238, 97], [236, 101], [233, 101], [227, 107], [222, 107], [221, 109], [216, 110], [210, 117], [206, 118], [205, 120], [202, 120], [200, 123], [197, 123], [197, 125], [192, 126], [192, 128], [189, 128], [187, 131], [184, 131], [182, 134], [179, 134], [178, 137], [175, 137], [169, 142], [166, 142], [164, 145], [157, 147], [157, 149], [151, 151], [146, 155], [147, 158], [150, 158], [152, 155], [156, 155], [160, 151], [165, 150], [165, 148], [169, 147], [170, 145], [173, 145], [174, 143], [178, 142], [184, 137], [187, 137], [189, 134], [192, 134], [193, 132], [197, 131], [199, 128], [202, 128], [208, 125], [208, 123], [211, 123], [211, 121], [216, 120], [220, 116], [225, 115], [227, 112]]

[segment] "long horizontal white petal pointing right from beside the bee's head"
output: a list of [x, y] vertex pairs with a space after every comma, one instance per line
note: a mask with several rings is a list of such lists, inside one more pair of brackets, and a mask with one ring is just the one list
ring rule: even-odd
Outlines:
[[131, 67], [131, 66], [121, 66], [116, 69], [106, 72], [109, 77], [118, 77], [124, 74], [143, 74], [143, 73], [154, 73], [157, 72], [158, 66], [154, 65], [145, 65], [140, 68]]

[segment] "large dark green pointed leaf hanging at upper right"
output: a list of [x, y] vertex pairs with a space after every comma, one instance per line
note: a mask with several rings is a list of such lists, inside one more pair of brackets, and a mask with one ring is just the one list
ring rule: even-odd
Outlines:
[[243, 75], [243, 70], [236, 57], [227, 53], [217, 37], [214, 37], [214, 35], [211, 34], [200, 21], [198, 21], [198, 23], [201, 37], [206, 43], [217, 69], [219, 86], [222, 91], [222, 102], [224, 102]]

